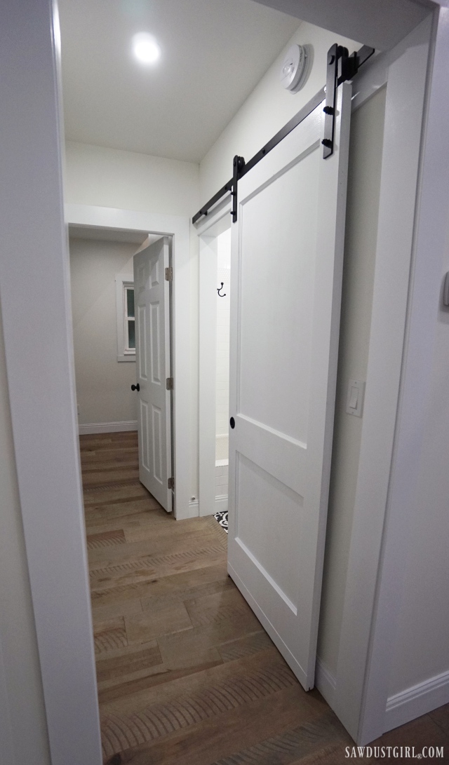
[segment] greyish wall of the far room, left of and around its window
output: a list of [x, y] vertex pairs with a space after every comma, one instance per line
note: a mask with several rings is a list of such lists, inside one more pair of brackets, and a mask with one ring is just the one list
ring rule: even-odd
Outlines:
[[[143, 238], [143, 236], [142, 236]], [[80, 425], [137, 421], [135, 361], [117, 361], [116, 275], [138, 245], [70, 237], [73, 346]]]

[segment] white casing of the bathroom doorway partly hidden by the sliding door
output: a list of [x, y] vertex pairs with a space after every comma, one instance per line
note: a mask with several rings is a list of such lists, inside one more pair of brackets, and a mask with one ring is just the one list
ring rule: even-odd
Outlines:
[[216, 238], [231, 226], [231, 197], [196, 224], [200, 238], [199, 294], [199, 514], [216, 513]]

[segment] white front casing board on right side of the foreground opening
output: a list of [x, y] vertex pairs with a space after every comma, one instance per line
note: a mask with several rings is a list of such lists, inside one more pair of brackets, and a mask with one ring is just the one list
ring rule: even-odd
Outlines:
[[[421, 56], [425, 54], [426, 50], [421, 50]], [[418, 55], [417, 49], [415, 57]], [[411, 64], [412, 61], [413, 58], [410, 60]], [[415, 64], [413, 66], [415, 67]], [[447, 99], [441, 100], [441, 88], [447, 84], [447, 67], [449, 67], [449, 8], [441, 8], [435, 12], [431, 30], [427, 92], [422, 83], [422, 70], [413, 72], [412, 66], [408, 67], [402, 78], [397, 78], [396, 83], [398, 90], [407, 87], [411, 93], [408, 114], [405, 111], [401, 114], [401, 119], [405, 119], [408, 124], [408, 138], [411, 131], [415, 132], [415, 122], [419, 117], [420, 104], [415, 101], [414, 106], [414, 98], [417, 99], [419, 93], [422, 98], [423, 90], [425, 111], [420, 136], [421, 155], [418, 194], [414, 210], [414, 239], [404, 360], [376, 597], [373, 613], [370, 616], [373, 627], [369, 636], [366, 662], [360, 744], [372, 741], [373, 738], [385, 732], [389, 724], [389, 715], [386, 715], [386, 696], [389, 691], [390, 662], [395, 652], [400, 650], [400, 646], [395, 645], [396, 628], [402, 606], [407, 561], [413, 556], [413, 551], [409, 548], [408, 535], [413, 524], [413, 514], [421, 513], [421, 508], [418, 509], [415, 506], [415, 496], [422, 465], [422, 436], [425, 432], [426, 418], [428, 418], [428, 396], [432, 380], [432, 354], [434, 353], [441, 275], [445, 270], [444, 263], [447, 257], [449, 178], [446, 168], [449, 163], [449, 147], [446, 142], [441, 144], [441, 131], [447, 131], [447, 125], [449, 125], [449, 104]], [[411, 83], [408, 82], [408, 78], [411, 78]], [[408, 115], [412, 119], [408, 119]], [[403, 158], [405, 166], [411, 157], [415, 161], [415, 150], [412, 151], [412, 155], [408, 152], [407, 158]], [[398, 172], [404, 174], [404, 171], [398, 170]], [[392, 194], [394, 189], [395, 184], [392, 179]], [[395, 204], [393, 216], [396, 219], [399, 210], [397, 197], [392, 203]], [[391, 226], [390, 246], [397, 249], [393, 233], [395, 228], [396, 233], [400, 230], [397, 229], [397, 220], [394, 223], [391, 222]], [[395, 285], [395, 295], [391, 295], [390, 300], [397, 300], [397, 294], [398, 289]], [[391, 323], [392, 316], [390, 314], [389, 317], [387, 313], [385, 318], [389, 322], [389, 331], [391, 331], [395, 320], [393, 319]], [[389, 369], [390, 383], [392, 364], [385, 353], [382, 363], [384, 368]], [[382, 421], [379, 422], [379, 426], [382, 426]], [[369, 499], [371, 500], [371, 497]], [[370, 502], [367, 502], [366, 513], [370, 513], [371, 510]], [[365, 533], [367, 531], [368, 529]], [[363, 553], [359, 552], [359, 556], [361, 554]], [[353, 607], [357, 608], [358, 603], [355, 602]], [[419, 613], [419, 608], [416, 613]], [[413, 617], [415, 620], [415, 613]], [[446, 662], [447, 657], [444, 662], [447, 666]]]

